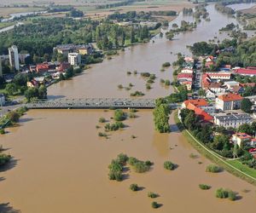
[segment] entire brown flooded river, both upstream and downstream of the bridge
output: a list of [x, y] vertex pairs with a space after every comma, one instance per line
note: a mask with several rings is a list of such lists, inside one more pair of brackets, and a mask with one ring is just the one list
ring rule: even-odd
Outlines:
[[[168, 95], [171, 88], [162, 87], [160, 78], [172, 79], [172, 68], [160, 72], [163, 62], [175, 60], [177, 52], [189, 54], [186, 45], [212, 39], [218, 29], [236, 20], [208, 7], [212, 21], [202, 21], [195, 32], [180, 34], [174, 41], [155, 37], [155, 43], [145, 43], [93, 66], [73, 80], [53, 85], [51, 97], [127, 97], [131, 91], [119, 90], [117, 85], [133, 83], [133, 90], [142, 90], [145, 97]], [[177, 20], [181, 20], [179, 16]], [[174, 21], [174, 22], [175, 22]], [[179, 22], [178, 22], [179, 23]], [[173, 52], [174, 54], [171, 54]], [[145, 80], [127, 76], [127, 71], [154, 72], [153, 88], [145, 89]], [[125, 120], [124, 130], [110, 133], [109, 139], [98, 136], [103, 125], [98, 118], [109, 121], [113, 111], [102, 110], [40, 110], [30, 111], [21, 118], [20, 126], [9, 129], [0, 137], [7, 153], [15, 156], [9, 168], [0, 172], [0, 212], [25, 213], [117, 213], [117, 212], [252, 212], [256, 203], [256, 187], [227, 172], [208, 174], [209, 160], [201, 157], [177, 130], [173, 115], [171, 134], [154, 131], [150, 110], [140, 110], [137, 118]], [[96, 125], [101, 129], [97, 130]], [[131, 139], [135, 135], [135, 139]], [[128, 171], [124, 181], [108, 180], [108, 164], [119, 153], [154, 162], [144, 174]], [[194, 153], [198, 158], [190, 158]], [[166, 171], [163, 163], [171, 160], [177, 170]], [[199, 164], [201, 162], [201, 164]], [[143, 190], [131, 192], [137, 183]], [[212, 188], [203, 191], [198, 184]], [[215, 198], [218, 187], [239, 193], [235, 202]], [[147, 193], [159, 193], [155, 199], [160, 209], [151, 208]], [[9, 210], [7, 210], [9, 206]], [[5, 208], [6, 207], [6, 208]], [[1, 209], [2, 208], [2, 209]], [[5, 208], [5, 211], [3, 210]], [[13, 208], [13, 210], [10, 210]]]

